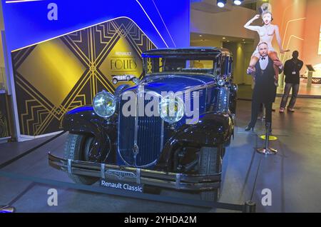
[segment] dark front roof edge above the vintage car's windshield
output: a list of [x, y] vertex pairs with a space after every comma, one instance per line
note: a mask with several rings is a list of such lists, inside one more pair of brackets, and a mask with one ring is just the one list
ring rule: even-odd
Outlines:
[[163, 48], [163, 49], [151, 49], [144, 51], [142, 56], [195, 56], [195, 54], [205, 56], [218, 56], [223, 54], [225, 56], [233, 56], [228, 49], [210, 47], [210, 46], [191, 46], [187, 48]]

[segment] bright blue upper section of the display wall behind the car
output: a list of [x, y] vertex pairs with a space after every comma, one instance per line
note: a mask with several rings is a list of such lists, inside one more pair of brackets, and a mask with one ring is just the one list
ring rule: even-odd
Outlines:
[[9, 51], [128, 17], [158, 48], [189, 46], [189, 0], [1, 0]]

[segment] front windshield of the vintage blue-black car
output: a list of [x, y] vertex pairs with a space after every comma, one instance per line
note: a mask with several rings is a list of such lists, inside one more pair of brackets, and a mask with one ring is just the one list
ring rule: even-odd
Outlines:
[[144, 58], [144, 67], [147, 75], [160, 73], [193, 73], [193, 74], [215, 74], [216, 58], [165, 58], [147, 57]]

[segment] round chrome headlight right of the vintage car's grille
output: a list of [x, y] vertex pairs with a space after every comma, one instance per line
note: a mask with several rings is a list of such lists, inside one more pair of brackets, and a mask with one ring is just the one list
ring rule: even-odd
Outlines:
[[159, 112], [164, 121], [175, 123], [184, 116], [184, 102], [177, 96], [165, 96], [159, 104]]

